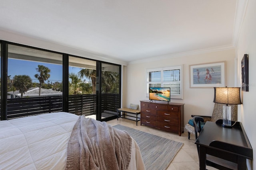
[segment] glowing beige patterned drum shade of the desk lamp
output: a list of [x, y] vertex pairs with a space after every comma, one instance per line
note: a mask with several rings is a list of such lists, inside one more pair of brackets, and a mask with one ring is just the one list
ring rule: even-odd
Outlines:
[[214, 87], [214, 103], [242, 104], [240, 87]]

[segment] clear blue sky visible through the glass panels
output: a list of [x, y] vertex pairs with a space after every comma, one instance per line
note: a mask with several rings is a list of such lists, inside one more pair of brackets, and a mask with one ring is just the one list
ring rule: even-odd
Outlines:
[[[62, 82], [62, 65], [18, 59], [8, 59], [8, 76], [12, 79], [15, 75], [28, 75], [32, 79], [32, 82], [39, 82], [38, 79], [34, 77], [34, 75], [38, 73], [36, 71], [38, 65], [44, 65], [50, 68], [50, 78], [48, 79], [50, 82]], [[80, 70], [81, 68], [78, 67], [69, 67], [69, 73], [73, 72], [77, 74]], [[45, 83], [48, 83], [48, 80], [46, 80]]]

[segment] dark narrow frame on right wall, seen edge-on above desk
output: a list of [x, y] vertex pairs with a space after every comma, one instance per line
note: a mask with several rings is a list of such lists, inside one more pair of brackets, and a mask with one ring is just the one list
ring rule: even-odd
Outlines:
[[248, 55], [244, 54], [241, 60], [241, 73], [242, 73], [242, 91], [249, 92], [249, 71], [248, 71]]

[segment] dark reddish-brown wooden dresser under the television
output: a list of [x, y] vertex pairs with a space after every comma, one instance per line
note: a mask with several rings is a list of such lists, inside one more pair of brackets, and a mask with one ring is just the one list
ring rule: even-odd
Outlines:
[[181, 135], [184, 132], [184, 104], [141, 100], [142, 124]]

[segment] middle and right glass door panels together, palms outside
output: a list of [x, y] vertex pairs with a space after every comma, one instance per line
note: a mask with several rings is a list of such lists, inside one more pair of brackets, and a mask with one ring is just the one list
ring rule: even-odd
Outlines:
[[68, 112], [99, 121], [115, 119], [120, 107], [120, 65], [69, 56], [68, 70]]

